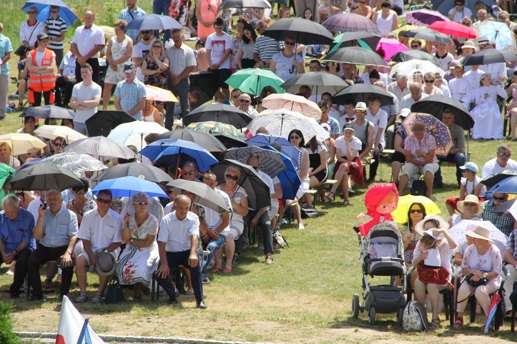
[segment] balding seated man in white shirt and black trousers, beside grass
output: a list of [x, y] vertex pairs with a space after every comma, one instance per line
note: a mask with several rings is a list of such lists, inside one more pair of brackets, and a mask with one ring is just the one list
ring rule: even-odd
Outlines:
[[160, 267], [156, 271], [156, 281], [169, 294], [169, 303], [175, 304], [176, 288], [169, 275], [176, 267], [183, 265], [190, 270], [196, 307], [203, 310], [207, 305], [203, 301], [203, 283], [201, 283], [201, 265], [197, 250], [199, 247], [199, 218], [189, 211], [190, 199], [185, 195], [174, 199], [174, 212], [163, 217], [158, 234]]

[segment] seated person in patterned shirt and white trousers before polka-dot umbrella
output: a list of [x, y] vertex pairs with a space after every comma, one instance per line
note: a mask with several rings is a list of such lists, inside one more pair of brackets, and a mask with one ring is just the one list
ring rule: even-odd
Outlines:
[[427, 197], [436, 201], [436, 197], [433, 196], [434, 174], [439, 167], [438, 158], [434, 154], [436, 140], [434, 136], [425, 132], [425, 124], [420, 121], [413, 124], [412, 131], [413, 134], [407, 136], [404, 141], [406, 163], [398, 183], [398, 193], [402, 194], [409, 178], [420, 172], [424, 175]]

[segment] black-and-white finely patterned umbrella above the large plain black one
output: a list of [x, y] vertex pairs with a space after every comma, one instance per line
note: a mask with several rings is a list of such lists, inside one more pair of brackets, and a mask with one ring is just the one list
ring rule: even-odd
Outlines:
[[261, 159], [260, 170], [271, 178], [274, 178], [278, 173], [285, 170], [285, 164], [278, 151], [265, 150], [256, 146], [232, 148], [225, 152], [224, 158], [247, 163], [247, 158], [250, 157], [250, 154], [259, 155]]

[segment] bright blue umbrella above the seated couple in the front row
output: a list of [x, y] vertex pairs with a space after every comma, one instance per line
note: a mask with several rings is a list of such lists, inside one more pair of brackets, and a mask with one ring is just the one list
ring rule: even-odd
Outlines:
[[114, 197], [131, 197], [136, 192], [145, 192], [150, 197], [168, 197], [158, 184], [135, 176], [124, 176], [117, 179], [101, 181], [93, 188], [93, 194], [99, 194], [101, 190], [111, 190]]

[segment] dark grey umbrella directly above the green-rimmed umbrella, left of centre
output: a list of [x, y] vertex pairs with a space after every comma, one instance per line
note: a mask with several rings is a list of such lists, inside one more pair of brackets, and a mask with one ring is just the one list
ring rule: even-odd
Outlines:
[[200, 106], [187, 114], [183, 119], [183, 125], [207, 121], [231, 124], [235, 128], [242, 129], [252, 121], [252, 118], [234, 105], [210, 104]]

